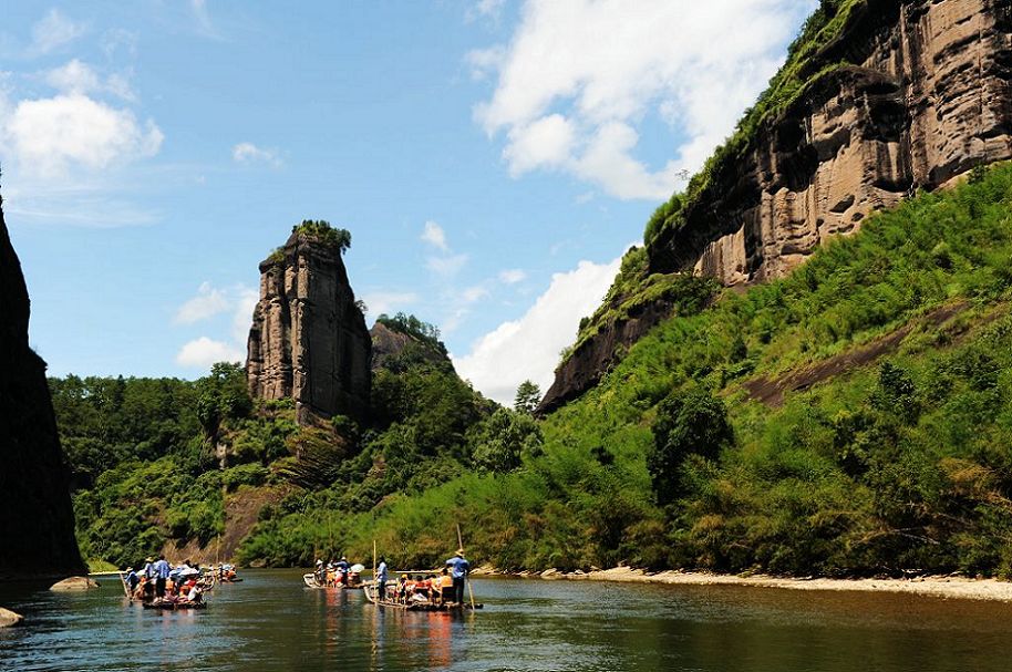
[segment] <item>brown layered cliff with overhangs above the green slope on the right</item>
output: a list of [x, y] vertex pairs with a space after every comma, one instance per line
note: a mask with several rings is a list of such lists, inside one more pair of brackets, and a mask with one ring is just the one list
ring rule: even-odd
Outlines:
[[[756, 117], [750, 112], [686, 193], [659, 208], [640, 283], [678, 273], [726, 287], [781, 278], [869, 214], [1012, 158], [1012, 3], [841, 6], [832, 39], [793, 52], [774, 80], [785, 90], [796, 81], [797, 90], [772, 85], [764, 97], [783, 104], [768, 103], [772, 112], [743, 134]], [[593, 386], [671, 316], [670, 300], [639, 301], [637, 311], [632, 319], [598, 311], [581, 328], [540, 413]]]

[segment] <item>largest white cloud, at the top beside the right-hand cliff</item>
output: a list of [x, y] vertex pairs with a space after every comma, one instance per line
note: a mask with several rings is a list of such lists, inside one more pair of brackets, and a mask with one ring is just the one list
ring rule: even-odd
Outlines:
[[[475, 117], [514, 176], [565, 169], [623, 199], [661, 199], [734, 127], [814, 0], [527, 0], [509, 44], [467, 55], [498, 74]], [[603, 37], [603, 38], [602, 38]], [[672, 126], [673, 158], [637, 157], [638, 127]]]

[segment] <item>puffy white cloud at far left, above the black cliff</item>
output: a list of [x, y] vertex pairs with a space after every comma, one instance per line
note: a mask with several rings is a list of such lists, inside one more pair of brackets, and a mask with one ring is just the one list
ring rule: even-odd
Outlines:
[[[86, 76], [84, 76], [86, 80]], [[22, 173], [60, 175], [71, 165], [105, 168], [157, 154], [164, 135], [151, 120], [81, 93], [25, 100], [0, 116], [0, 136]]]

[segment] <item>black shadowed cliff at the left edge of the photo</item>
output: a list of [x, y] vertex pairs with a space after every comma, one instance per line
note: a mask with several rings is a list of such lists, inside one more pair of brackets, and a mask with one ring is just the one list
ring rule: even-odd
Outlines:
[[29, 311], [0, 209], [0, 578], [84, 571], [45, 362], [28, 344]]

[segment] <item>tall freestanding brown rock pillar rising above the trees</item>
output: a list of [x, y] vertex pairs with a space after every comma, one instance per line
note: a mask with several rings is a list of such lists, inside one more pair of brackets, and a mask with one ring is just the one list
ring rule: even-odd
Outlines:
[[260, 263], [246, 374], [255, 397], [296, 402], [300, 423], [362, 417], [372, 381], [365, 318], [338, 248], [292, 234]]

